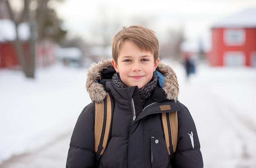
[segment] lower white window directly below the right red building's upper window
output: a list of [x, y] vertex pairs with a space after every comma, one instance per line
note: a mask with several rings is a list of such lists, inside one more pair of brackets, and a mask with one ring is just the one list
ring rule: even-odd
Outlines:
[[242, 51], [228, 51], [224, 54], [224, 65], [238, 67], [245, 65], [245, 54]]

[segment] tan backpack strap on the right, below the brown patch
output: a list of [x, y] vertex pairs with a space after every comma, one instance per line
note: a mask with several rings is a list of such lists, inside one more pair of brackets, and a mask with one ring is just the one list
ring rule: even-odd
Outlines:
[[177, 111], [162, 113], [164, 137], [168, 154], [172, 157], [177, 148], [178, 140], [178, 117]]

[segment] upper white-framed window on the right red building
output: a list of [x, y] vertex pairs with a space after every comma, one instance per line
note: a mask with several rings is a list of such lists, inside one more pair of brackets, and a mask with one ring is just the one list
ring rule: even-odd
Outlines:
[[245, 43], [243, 29], [227, 29], [224, 31], [224, 42], [227, 46], [241, 46]]

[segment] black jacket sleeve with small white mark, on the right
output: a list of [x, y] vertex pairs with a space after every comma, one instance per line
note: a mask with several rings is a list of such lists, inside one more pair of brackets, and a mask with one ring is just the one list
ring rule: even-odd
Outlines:
[[175, 168], [203, 168], [200, 142], [189, 110], [179, 103], [178, 142], [173, 164]]

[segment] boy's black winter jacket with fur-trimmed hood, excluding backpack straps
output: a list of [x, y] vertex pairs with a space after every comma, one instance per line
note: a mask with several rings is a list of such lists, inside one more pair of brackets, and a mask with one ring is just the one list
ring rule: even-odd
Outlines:
[[[195, 124], [189, 110], [177, 100], [179, 88], [176, 75], [161, 61], [157, 71], [164, 74], [163, 88], [160, 87], [162, 78], [159, 77], [152, 96], [142, 106], [137, 86], [121, 89], [112, 85], [115, 70], [110, 60], [95, 63], [88, 69], [86, 88], [93, 101], [83, 109], [77, 120], [68, 151], [67, 168], [94, 167], [94, 102], [103, 101], [106, 92], [113, 96], [115, 107], [111, 139], [100, 159], [99, 168], [172, 168], [160, 114], [176, 110], [178, 142], [173, 167], [203, 167]], [[161, 111], [160, 105], [171, 105], [171, 110]]]

